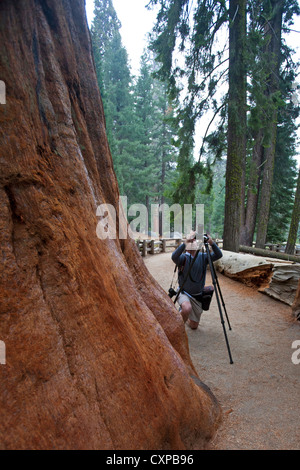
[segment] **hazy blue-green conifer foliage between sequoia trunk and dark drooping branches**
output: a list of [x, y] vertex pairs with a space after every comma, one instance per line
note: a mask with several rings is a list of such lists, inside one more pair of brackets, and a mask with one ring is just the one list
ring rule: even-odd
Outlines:
[[106, 129], [121, 195], [128, 204], [163, 202], [177, 150], [166, 86], [145, 54], [136, 82], [111, 0], [96, 0], [92, 42]]

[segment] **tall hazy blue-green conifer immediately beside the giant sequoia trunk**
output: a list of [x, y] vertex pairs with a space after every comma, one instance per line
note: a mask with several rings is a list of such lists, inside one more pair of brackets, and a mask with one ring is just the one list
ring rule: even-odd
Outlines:
[[112, 0], [95, 0], [92, 43], [102, 94], [108, 141], [122, 195], [134, 199], [134, 100], [128, 55], [122, 44], [121, 23]]

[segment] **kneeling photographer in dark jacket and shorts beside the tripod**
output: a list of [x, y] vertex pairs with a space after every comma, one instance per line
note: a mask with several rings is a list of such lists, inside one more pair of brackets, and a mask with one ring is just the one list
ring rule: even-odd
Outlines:
[[[213, 242], [211, 237], [207, 236], [207, 241], [213, 250], [211, 254], [212, 261], [217, 261], [222, 258], [223, 254], [221, 250], [216, 243]], [[185, 253], [184, 250], [186, 250]], [[195, 257], [196, 259], [194, 259]], [[184, 322], [188, 322], [187, 324], [195, 330], [198, 328], [203, 311], [202, 304], [197, 301], [195, 297], [201, 295], [203, 292], [206, 267], [208, 264], [207, 253], [200, 253], [198, 251], [195, 232], [190, 233], [186, 239], [186, 244], [182, 243], [174, 253], [172, 253], [172, 260], [179, 269], [179, 287], [181, 287], [184, 282], [183, 290], [180, 292], [177, 299], [181, 308], [181, 315]], [[191, 268], [192, 263], [193, 266]]]

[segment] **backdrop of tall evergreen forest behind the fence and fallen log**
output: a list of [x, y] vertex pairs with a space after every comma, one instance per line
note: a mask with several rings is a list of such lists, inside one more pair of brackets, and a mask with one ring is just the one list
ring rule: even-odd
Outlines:
[[205, 229], [225, 249], [288, 242], [292, 253], [299, 85], [284, 38], [298, 2], [151, 0], [157, 22], [137, 76], [113, 1], [94, 5], [94, 59], [120, 194], [148, 208], [204, 204]]

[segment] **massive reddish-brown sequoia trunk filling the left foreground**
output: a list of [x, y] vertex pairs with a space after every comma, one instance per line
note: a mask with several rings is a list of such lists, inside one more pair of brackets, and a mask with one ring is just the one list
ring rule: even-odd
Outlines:
[[117, 206], [84, 0], [2, 0], [0, 447], [203, 446], [220, 409]]

